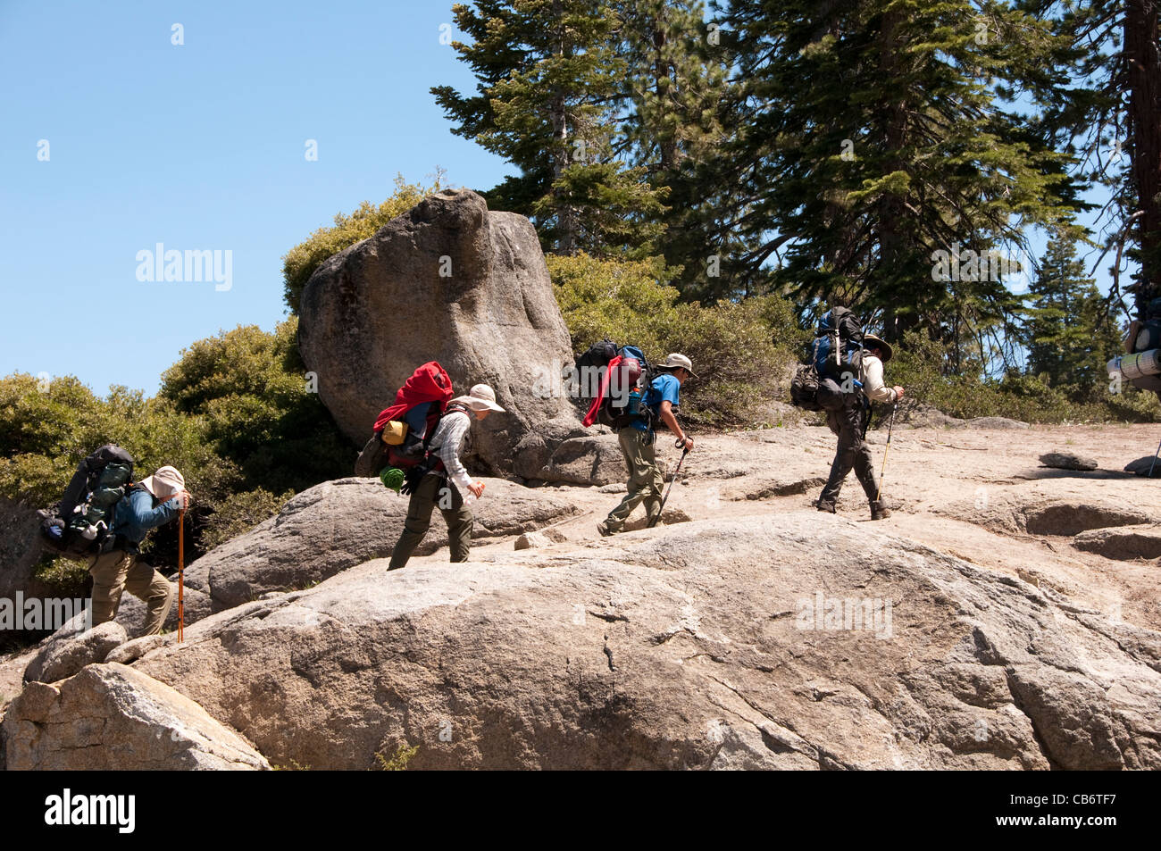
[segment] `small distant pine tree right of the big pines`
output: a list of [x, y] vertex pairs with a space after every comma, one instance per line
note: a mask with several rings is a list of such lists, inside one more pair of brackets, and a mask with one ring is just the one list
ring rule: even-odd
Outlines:
[[1027, 300], [1027, 372], [1077, 398], [1103, 390], [1105, 363], [1119, 346], [1117, 324], [1096, 282], [1084, 276], [1076, 238], [1067, 230], [1048, 241]]

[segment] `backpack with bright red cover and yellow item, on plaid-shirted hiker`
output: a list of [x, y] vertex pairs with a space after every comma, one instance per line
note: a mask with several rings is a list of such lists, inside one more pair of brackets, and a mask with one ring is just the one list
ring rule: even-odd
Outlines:
[[395, 394], [395, 404], [375, 420], [355, 475], [369, 478], [387, 467], [406, 469], [421, 462], [452, 396], [452, 378], [437, 361], [416, 369]]

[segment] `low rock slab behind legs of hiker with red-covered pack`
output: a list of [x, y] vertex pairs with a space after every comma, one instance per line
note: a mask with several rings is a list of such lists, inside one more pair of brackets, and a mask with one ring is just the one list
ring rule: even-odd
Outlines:
[[[500, 478], [483, 481], [484, 496], [471, 507], [474, 539], [519, 535], [576, 512], [563, 495]], [[377, 478], [323, 482], [295, 496], [276, 517], [190, 564], [186, 584], [208, 594], [216, 612], [272, 591], [316, 585], [347, 568], [389, 556], [403, 531], [408, 502]], [[416, 553], [430, 555], [446, 546], [447, 525], [435, 511]], [[190, 614], [187, 623], [199, 619]]]

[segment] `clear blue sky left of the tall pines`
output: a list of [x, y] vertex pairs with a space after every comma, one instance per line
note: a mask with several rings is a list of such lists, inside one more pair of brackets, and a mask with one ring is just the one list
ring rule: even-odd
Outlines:
[[[283, 318], [282, 254], [397, 173], [496, 185], [427, 91], [473, 86], [450, 6], [0, 0], [0, 375], [152, 394], [194, 340]], [[232, 251], [232, 288], [138, 281], [156, 243]]]

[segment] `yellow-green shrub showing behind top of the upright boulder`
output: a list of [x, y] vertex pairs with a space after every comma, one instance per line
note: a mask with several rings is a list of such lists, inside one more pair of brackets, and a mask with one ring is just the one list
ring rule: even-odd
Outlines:
[[298, 302], [307, 281], [324, 260], [372, 236], [396, 216], [403, 215], [428, 195], [439, 192], [441, 185], [439, 173], [431, 186], [409, 183], [399, 174], [395, 178], [395, 192], [378, 207], [370, 201], [363, 201], [354, 212], [339, 212], [334, 216], [333, 225], [319, 228], [288, 251], [282, 258], [282, 283], [283, 298], [291, 312], [298, 312]]

